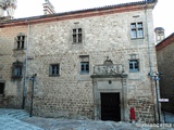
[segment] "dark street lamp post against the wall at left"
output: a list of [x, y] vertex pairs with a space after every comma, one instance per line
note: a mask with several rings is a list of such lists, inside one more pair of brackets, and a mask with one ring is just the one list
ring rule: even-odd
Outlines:
[[30, 112], [29, 112], [29, 117], [33, 116], [33, 100], [34, 100], [34, 84], [35, 84], [35, 78], [37, 74], [34, 74], [29, 80], [32, 80], [32, 93], [30, 93]]

